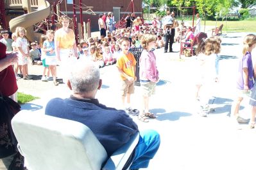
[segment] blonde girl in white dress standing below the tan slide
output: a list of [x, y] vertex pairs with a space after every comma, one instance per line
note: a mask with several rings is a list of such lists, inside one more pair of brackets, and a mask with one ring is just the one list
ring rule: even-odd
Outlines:
[[18, 51], [18, 64], [22, 65], [22, 74], [24, 80], [32, 79], [31, 76], [28, 75], [28, 59], [30, 58], [30, 48], [28, 47], [28, 40], [25, 38], [26, 30], [23, 27], [18, 26], [16, 28], [17, 34], [17, 48]]

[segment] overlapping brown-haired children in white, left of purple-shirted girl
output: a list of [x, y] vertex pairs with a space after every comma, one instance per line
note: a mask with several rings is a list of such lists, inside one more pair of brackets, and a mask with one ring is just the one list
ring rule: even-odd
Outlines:
[[[212, 97], [213, 85], [216, 82], [216, 57], [221, 51], [221, 43], [215, 37], [203, 40], [196, 53], [199, 60], [199, 72], [196, 74], [196, 87], [198, 88], [196, 98], [200, 101], [200, 110], [198, 114], [206, 117], [209, 112], [214, 112], [214, 108], [210, 108], [209, 100]], [[199, 93], [201, 95], [199, 95]]]

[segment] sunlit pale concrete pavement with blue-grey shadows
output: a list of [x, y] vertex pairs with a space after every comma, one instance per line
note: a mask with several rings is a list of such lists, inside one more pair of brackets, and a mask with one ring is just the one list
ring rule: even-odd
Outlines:
[[[221, 60], [219, 62], [220, 81], [213, 90], [216, 112], [208, 117], [196, 113], [194, 103], [194, 74], [196, 57], [182, 58], [178, 53], [163, 53], [157, 49], [157, 66], [161, 81], [157, 85], [155, 96], [150, 101], [151, 112], [157, 119], [142, 123], [133, 117], [140, 130], [155, 129], [160, 133], [161, 146], [148, 169], [203, 170], [203, 169], [244, 169], [255, 167], [256, 135], [247, 124], [239, 125], [237, 130], [231, 121], [230, 106], [234, 99], [237, 59], [241, 57], [243, 37], [247, 33], [228, 33], [222, 37]], [[179, 51], [179, 44], [174, 44]], [[252, 53], [255, 56], [255, 51]], [[33, 94], [40, 99], [22, 105], [22, 109], [44, 113], [44, 107], [51, 98], [69, 97], [70, 91], [64, 84], [58, 87], [52, 81], [42, 82], [42, 67], [30, 65], [29, 73], [37, 80], [19, 80], [19, 92]], [[103, 87], [98, 91], [100, 103], [117, 107], [118, 72], [115, 65], [101, 69]], [[135, 108], [142, 103], [139, 87], [132, 96]], [[242, 103], [241, 113], [250, 117], [250, 109]]]

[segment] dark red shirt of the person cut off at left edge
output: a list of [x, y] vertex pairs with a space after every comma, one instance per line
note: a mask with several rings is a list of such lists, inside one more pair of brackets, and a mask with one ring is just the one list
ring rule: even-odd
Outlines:
[[[6, 46], [0, 42], [0, 61], [6, 57]], [[0, 72], [0, 94], [11, 96], [17, 92], [18, 86], [12, 65]]]

